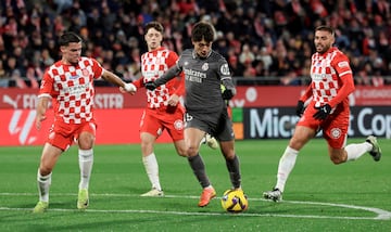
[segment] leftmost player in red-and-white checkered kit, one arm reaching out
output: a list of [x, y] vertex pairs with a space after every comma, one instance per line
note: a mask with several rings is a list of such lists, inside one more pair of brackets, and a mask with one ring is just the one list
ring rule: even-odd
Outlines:
[[118, 76], [104, 69], [94, 59], [81, 56], [83, 40], [74, 33], [65, 33], [59, 39], [62, 59], [43, 74], [38, 94], [36, 127], [47, 118], [49, 102], [52, 102], [54, 123], [45, 143], [37, 173], [39, 201], [33, 212], [43, 212], [49, 207], [49, 188], [52, 170], [74, 142], [78, 145], [80, 169], [77, 208], [89, 204], [88, 186], [93, 164], [93, 143], [97, 123], [93, 117], [93, 80], [102, 77], [131, 94], [136, 88]]

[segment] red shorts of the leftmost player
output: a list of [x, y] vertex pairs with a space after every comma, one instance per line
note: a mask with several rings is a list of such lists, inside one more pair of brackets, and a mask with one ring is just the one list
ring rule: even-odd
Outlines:
[[47, 142], [66, 151], [73, 142], [76, 142], [79, 134], [84, 131], [96, 136], [97, 124], [93, 120], [81, 124], [65, 124], [64, 121], [58, 120], [50, 128]]

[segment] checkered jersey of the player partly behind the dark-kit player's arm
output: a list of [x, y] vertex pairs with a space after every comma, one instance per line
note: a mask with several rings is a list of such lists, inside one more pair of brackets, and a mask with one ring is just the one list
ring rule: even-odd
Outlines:
[[[141, 74], [139, 81], [143, 83], [153, 81], [162, 76], [169, 67], [176, 64], [177, 53], [166, 48], [160, 48], [154, 51], [146, 52], [141, 55]], [[137, 82], [137, 81], [136, 81]], [[135, 86], [141, 86], [140, 82]], [[174, 93], [182, 95], [185, 91], [184, 78], [175, 78], [165, 85], [157, 87], [155, 90], [147, 90], [148, 107], [159, 108], [167, 106], [169, 96]]]

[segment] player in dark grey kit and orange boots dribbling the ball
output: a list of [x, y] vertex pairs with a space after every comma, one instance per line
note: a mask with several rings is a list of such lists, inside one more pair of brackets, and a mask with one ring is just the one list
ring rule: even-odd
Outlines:
[[[205, 165], [199, 153], [205, 133], [215, 137], [226, 159], [232, 189], [241, 189], [239, 158], [235, 153], [232, 123], [225, 100], [236, 94], [227, 61], [212, 50], [214, 28], [205, 22], [197, 23], [191, 31], [193, 49], [182, 52], [177, 64], [154, 81], [146, 83], [150, 90], [159, 87], [180, 72], [185, 73], [185, 143], [187, 156], [198, 181], [203, 188], [199, 206], [206, 206], [216, 196]], [[220, 85], [225, 87], [222, 93]]]

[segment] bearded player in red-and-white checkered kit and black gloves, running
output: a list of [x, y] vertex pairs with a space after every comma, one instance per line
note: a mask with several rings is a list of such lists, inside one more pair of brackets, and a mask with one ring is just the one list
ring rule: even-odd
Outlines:
[[[312, 82], [298, 102], [297, 114], [300, 120], [279, 160], [277, 183], [272, 191], [263, 193], [267, 199], [282, 199], [286, 181], [294, 167], [299, 151], [320, 130], [333, 164], [355, 160], [367, 152], [375, 162], [380, 160], [381, 150], [374, 136], [369, 136], [363, 143], [346, 145], [349, 94], [355, 87], [349, 59], [332, 46], [333, 42], [335, 31], [331, 27], [323, 25], [315, 29], [316, 52], [312, 55]], [[310, 103], [305, 106], [307, 101]]]

